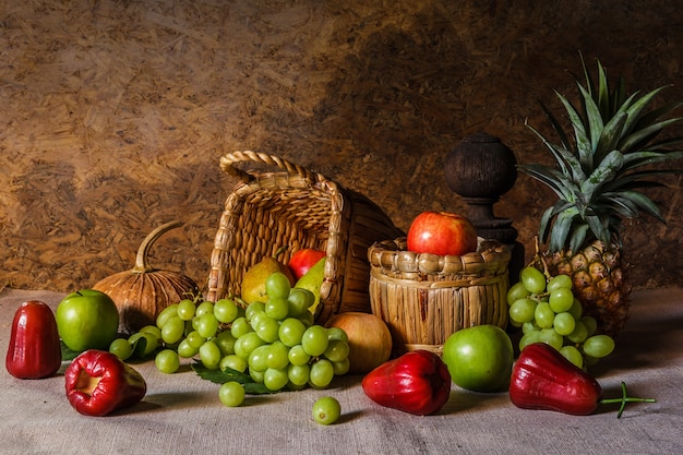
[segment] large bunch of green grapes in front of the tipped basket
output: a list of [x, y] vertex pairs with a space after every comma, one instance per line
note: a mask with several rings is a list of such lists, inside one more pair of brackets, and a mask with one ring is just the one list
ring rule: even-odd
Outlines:
[[[199, 304], [182, 300], [163, 310], [156, 325], [118, 338], [110, 350], [123, 360], [133, 354], [154, 355], [164, 373], [176, 372], [181, 358], [196, 357], [197, 371], [227, 372], [225, 381], [218, 382], [237, 378], [265, 387], [251, 387], [250, 393], [325, 388], [335, 375], [348, 372], [347, 335], [338, 327], [313, 323], [313, 292], [292, 288], [280, 272], [267, 277], [265, 292], [265, 302], [253, 301], [245, 308], [233, 299]], [[221, 402], [241, 403], [232, 399], [235, 394], [243, 397], [235, 385], [224, 387]]]

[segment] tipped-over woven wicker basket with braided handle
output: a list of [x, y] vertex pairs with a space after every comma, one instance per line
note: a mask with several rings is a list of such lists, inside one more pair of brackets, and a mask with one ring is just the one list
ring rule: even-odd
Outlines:
[[[238, 167], [245, 164], [252, 168]], [[286, 246], [278, 256], [285, 263], [302, 248], [327, 253], [319, 323], [338, 312], [371, 311], [368, 248], [390, 235], [404, 235], [380, 207], [276, 156], [235, 152], [220, 159], [220, 167], [241, 181], [226, 200], [216, 232], [207, 300], [239, 296], [249, 267]]]

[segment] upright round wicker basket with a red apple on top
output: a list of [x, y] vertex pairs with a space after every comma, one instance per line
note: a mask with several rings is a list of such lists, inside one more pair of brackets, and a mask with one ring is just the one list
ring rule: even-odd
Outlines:
[[372, 312], [388, 325], [396, 354], [441, 355], [454, 332], [481, 324], [505, 327], [510, 248], [479, 238], [477, 252], [440, 256], [406, 251], [406, 239], [368, 250]]

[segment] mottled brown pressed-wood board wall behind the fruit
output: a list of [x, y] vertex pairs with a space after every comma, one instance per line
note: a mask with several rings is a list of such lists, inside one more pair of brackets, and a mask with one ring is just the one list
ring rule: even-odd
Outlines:
[[[632, 89], [683, 99], [680, 1], [0, 0], [0, 288], [69, 291], [151, 261], [204, 284], [236, 181], [223, 154], [300, 164], [407, 229], [462, 212], [443, 160], [477, 131], [548, 161], [525, 119], [574, 96], [580, 50]], [[678, 133], [682, 133], [679, 127]], [[634, 285], [683, 282], [681, 178], [628, 225]], [[495, 206], [527, 253], [554, 202], [519, 176]]]

